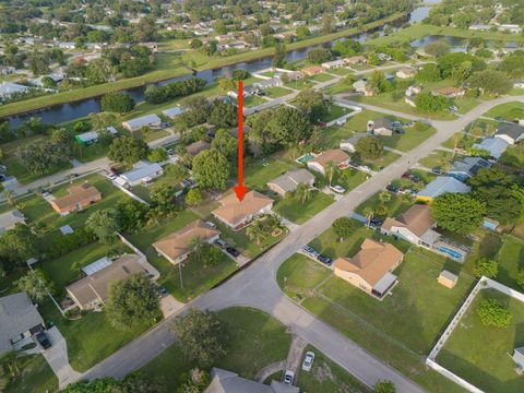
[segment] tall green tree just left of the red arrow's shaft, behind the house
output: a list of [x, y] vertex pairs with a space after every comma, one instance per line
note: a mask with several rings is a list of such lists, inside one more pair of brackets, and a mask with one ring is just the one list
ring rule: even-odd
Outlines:
[[229, 178], [229, 160], [215, 148], [203, 151], [193, 158], [193, 175], [200, 187], [224, 190]]

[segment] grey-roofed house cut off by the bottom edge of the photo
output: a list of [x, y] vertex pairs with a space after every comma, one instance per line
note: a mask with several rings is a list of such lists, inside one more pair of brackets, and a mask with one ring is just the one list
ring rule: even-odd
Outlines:
[[254, 382], [239, 377], [237, 373], [219, 368], [211, 369], [211, 383], [204, 393], [299, 393], [300, 389], [271, 381], [271, 384]]

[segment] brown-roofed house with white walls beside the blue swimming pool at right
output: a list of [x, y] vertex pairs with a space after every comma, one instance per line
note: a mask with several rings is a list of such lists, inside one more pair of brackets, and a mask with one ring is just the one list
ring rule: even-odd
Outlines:
[[415, 204], [396, 218], [385, 218], [381, 233], [400, 237], [416, 246], [430, 248], [440, 237], [434, 230], [436, 222], [431, 217], [431, 210], [425, 204]]

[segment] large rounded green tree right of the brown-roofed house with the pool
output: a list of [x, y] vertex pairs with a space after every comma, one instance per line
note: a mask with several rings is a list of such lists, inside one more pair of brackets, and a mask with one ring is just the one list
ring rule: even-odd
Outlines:
[[467, 234], [481, 224], [486, 209], [468, 194], [446, 192], [434, 199], [431, 213], [439, 227]]

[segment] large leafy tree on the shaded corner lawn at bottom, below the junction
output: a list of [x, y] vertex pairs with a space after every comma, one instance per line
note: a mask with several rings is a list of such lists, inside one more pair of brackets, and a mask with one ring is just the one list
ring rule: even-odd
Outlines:
[[210, 311], [191, 308], [171, 325], [183, 355], [201, 368], [207, 368], [226, 354], [225, 326]]

